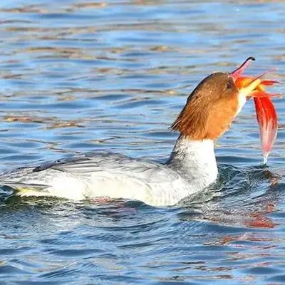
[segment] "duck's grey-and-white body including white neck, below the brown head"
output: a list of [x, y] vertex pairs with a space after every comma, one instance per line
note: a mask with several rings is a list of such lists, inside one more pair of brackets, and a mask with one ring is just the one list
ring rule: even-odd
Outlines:
[[167, 206], [199, 192], [216, 178], [214, 143], [179, 139], [165, 165], [96, 152], [4, 172], [0, 181], [21, 196], [110, 197]]

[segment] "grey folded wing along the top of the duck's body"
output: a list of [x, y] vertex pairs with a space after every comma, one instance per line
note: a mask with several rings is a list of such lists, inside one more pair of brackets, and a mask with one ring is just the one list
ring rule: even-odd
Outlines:
[[58, 170], [83, 176], [94, 175], [95, 172], [109, 172], [140, 179], [147, 177], [151, 182], [173, 181], [178, 178], [177, 173], [166, 165], [103, 151], [56, 160], [35, 167], [33, 172], [44, 170]]

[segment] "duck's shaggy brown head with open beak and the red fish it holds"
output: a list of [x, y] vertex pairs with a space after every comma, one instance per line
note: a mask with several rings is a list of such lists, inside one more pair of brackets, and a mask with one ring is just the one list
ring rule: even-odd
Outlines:
[[252, 61], [254, 58], [249, 57], [232, 73], [212, 73], [204, 78], [188, 97], [172, 129], [190, 140], [216, 140], [229, 128], [247, 99], [254, 97], [266, 102], [265, 105], [256, 102], [256, 110], [261, 138], [266, 140], [262, 147], [267, 152], [276, 137], [277, 119], [270, 100], [276, 94], [266, 93], [263, 85], [276, 81], [261, 81], [265, 73], [256, 78], [242, 77]]

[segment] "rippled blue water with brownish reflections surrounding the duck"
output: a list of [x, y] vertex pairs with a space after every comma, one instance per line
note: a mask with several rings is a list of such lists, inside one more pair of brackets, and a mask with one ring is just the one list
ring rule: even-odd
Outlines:
[[[285, 81], [283, 1], [2, 0], [0, 170], [112, 150], [164, 161], [209, 73]], [[284, 93], [284, 86], [272, 92]], [[285, 100], [263, 167], [249, 101], [217, 141], [217, 185], [182, 207], [0, 190], [0, 284], [284, 284]]]

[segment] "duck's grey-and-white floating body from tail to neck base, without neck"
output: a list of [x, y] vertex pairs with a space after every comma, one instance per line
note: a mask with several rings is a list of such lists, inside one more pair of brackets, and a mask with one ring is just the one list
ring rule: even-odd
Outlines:
[[87, 153], [5, 172], [0, 184], [23, 196], [111, 197], [153, 205], [176, 204], [185, 197], [187, 188], [183, 178], [167, 165], [111, 152]]

